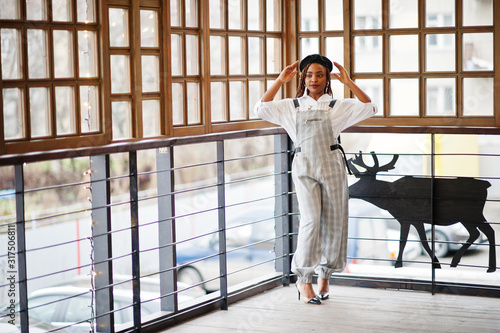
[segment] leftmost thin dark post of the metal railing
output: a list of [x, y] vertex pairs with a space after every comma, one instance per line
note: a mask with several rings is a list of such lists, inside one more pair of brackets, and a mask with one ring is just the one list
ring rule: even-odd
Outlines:
[[[16, 183], [16, 235], [17, 235], [17, 280], [19, 281], [19, 316], [21, 332], [29, 332], [28, 322], [28, 278], [26, 271], [26, 225], [24, 216], [24, 168], [14, 166]], [[2, 281], [3, 282], [3, 281]]]

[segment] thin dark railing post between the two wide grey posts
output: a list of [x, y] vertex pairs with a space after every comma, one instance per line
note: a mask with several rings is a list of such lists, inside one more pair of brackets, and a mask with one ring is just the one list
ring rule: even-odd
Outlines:
[[130, 176], [130, 236], [132, 243], [132, 294], [134, 310], [134, 330], [141, 329], [141, 285], [139, 262], [139, 194], [137, 175], [137, 152], [129, 153]]

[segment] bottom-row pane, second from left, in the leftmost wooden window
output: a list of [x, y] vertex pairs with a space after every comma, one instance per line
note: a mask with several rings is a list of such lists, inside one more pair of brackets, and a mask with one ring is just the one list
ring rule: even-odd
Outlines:
[[31, 137], [50, 135], [50, 90], [47, 87], [30, 88]]

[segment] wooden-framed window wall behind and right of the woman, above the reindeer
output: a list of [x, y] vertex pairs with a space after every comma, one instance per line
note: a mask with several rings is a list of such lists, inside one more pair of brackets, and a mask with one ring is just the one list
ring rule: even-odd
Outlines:
[[[350, 16], [339, 17], [346, 4]], [[301, 0], [298, 7], [301, 57], [321, 52], [344, 64], [379, 106], [365, 124], [500, 124], [493, 0]], [[335, 85], [334, 94], [349, 96]]]

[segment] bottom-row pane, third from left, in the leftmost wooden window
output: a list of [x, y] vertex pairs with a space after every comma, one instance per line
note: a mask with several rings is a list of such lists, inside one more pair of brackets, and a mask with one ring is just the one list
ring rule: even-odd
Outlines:
[[75, 123], [75, 89], [73, 87], [56, 87], [56, 131], [57, 135], [76, 132]]

